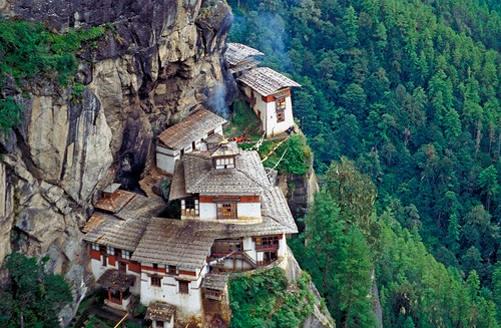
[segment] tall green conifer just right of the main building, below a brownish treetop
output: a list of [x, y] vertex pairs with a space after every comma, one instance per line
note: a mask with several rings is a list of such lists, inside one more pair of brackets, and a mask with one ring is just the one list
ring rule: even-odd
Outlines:
[[339, 327], [373, 327], [371, 261], [360, 228], [350, 225], [328, 192], [316, 195], [306, 218], [306, 247], [302, 238], [291, 247], [327, 301]]

